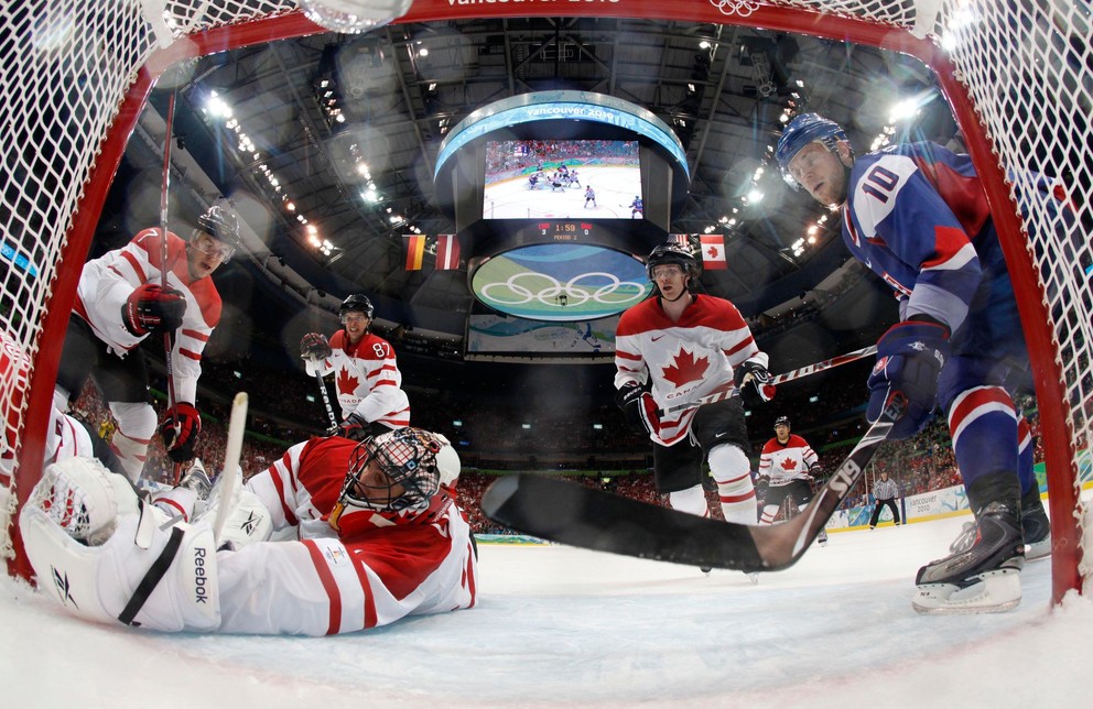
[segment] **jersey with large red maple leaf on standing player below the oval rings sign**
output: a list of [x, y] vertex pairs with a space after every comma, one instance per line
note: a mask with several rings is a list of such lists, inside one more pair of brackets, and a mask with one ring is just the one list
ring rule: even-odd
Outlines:
[[[695, 295], [678, 323], [664, 314], [659, 297], [631, 307], [619, 318], [615, 338], [615, 388], [652, 382], [659, 408], [693, 402], [733, 386], [733, 368], [745, 360], [767, 367], [767, 354], [736, 306], [723, 298]], [[667, 414], [650, 438], [665, 446], [683, 439], [695, 408]]]

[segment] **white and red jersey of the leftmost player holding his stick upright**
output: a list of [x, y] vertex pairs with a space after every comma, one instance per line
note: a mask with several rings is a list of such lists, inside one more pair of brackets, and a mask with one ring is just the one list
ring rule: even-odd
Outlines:
[[[125, 357], [148, 337], [137, 337], [121, 321], [121, 308], [133, 290], [159, 284], [162, 275], [162, 239], [159, 229], [145, 229], [125, 247], [84, 264], [73, 309], [91, 326], [95, 337], [115, 354]], [[220, 321], [220, 294], [213, 279], [190, 277], [186, 242], [167, 232], [167, 286], [186, 298], [186, 314], [174, 332], [171, 352], [174, 395], [177, 401], [197, 401], [202, 352]]]

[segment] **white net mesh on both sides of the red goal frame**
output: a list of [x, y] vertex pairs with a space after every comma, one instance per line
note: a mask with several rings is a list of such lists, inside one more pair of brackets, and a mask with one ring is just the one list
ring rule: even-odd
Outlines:
[[[1027, 255], [1041, 283], [1062, 371], [1061, 401], [1072, 432], [1069, 465], [1076, 487], [1090, 477], [1093, 413], [1093, 34], [1090, 4], [1071, 0], [691, 0], [707, 21], [745, 21], [756, 12], [801, 9], [856, 18], [931, 36], [943, 46], [966, 85], [985, 133], [1009, 175], [1041, 172], [1058, 179], [1073, 212], [1060, 217], [1042, 205], [1029, 209]], [[415, 11], [450, 11], [448, 0], [418, 0]], [[582, 3], [584, 6], [585, 3]], [[424, 10], [422, 10], [424, 8]], [[40, 336], [66, 239], [104, 140], [138, 69], [170, 37], [268, 18], [295, 9], [292, 0], [238, 2], [184, 0], [24, 0], [0, 10], [0, 323], [11, 347], [36, 361]], [[609, 13], [612, 6], [600, 10]], [[493, 6], [491, 12], [519, 12]], [[467, 11], [469, 14], [469, 10]], [[802, 31], [813, 15], [802, 14]], [[965, 130], [967, 127], [965, 126]], [[74, 254], [67, 268], [82, 261]], [[67, 307], [63, 304], [62, 307]], [[1042, 354], [1041, 354], [1042, 357]], [[0, 406], [0, 490], [11, 492], [29, 381], [4, 372]], [[10, 495], [0, 495], [10, 497]], [[0, 500], [2, 502], [2, 500]], [[1075, 516], [1082, 510], [1075, 505]], [[2, 515], [0, 515], [2, 520]], [[7, 534], [0, 543], [11, 553]], [[1075, 539], [1076, 542], [1076, 539]]]

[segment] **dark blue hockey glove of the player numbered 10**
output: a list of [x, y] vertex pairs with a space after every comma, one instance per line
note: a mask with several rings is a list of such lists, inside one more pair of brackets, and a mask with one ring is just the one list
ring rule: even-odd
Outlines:
[[938, 377], [949, 358], [949, 329], [940, 323], [897, 323], [877, 341], [877, 363], [869, 374], [869, 423], [899, 396], [903, 415], [888, 434], [891, 440], [910, 438], [922, 430], [938, 405]]

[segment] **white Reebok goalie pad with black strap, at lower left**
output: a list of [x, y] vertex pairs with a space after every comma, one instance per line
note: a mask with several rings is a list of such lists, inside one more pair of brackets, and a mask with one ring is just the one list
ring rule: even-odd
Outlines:
[[[131, 624], [152, 630], [215, 630], [220, 622], [219, 592], [208, 525], [161, 528], [165, 517], [149, 505], [140, 508], [128, 482], [132, 506], [121, 502], [120, 514], [102, 523], [100, 513], [110, 509], [112, 486], [109, 478], [99, 479], [94, 467], [85, 478], [87, 489], [73, 484], [74, 477], [86, 472], [43, 477], [33, 503], [20, 515], [39, 588], [87, 620], [117, 623], [131, 617]], [[63, 479], [68, 482], [58, 486]], [[123, 498], [120, 488], [117, 492]], [[83, 502], [73, 503], [69, 512], [68, 500]], [[88, 545], [87, 536], [101, 543]]]

